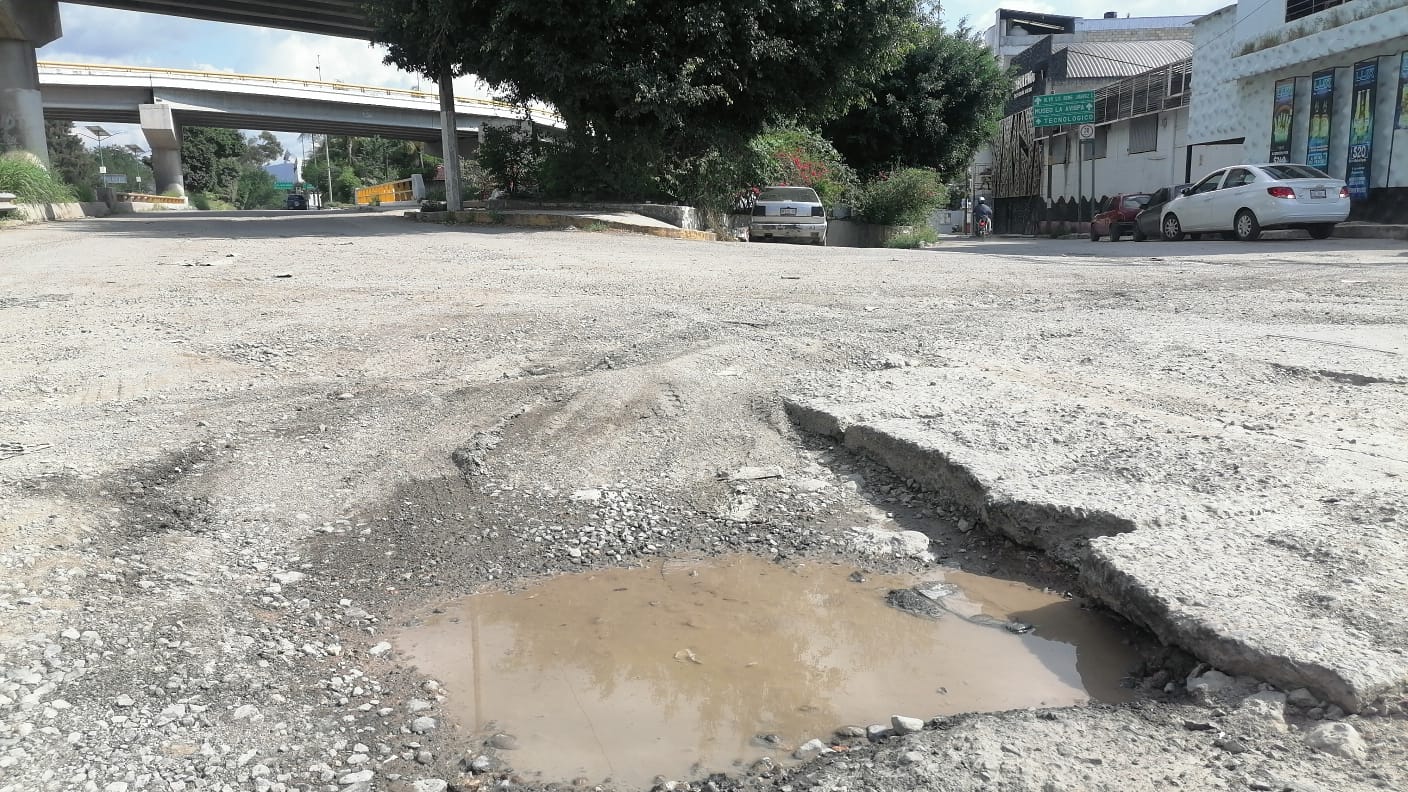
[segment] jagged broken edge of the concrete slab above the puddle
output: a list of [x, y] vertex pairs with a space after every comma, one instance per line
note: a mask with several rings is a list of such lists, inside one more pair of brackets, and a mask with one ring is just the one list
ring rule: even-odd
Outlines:
[[1157, 537], [1164, 531], [1157, 517], [1138, 510], [1122, 513], [1126, 507], [1119, 497], [1093, 497], [1079, 486], [1062, 495], [1063, 502], [1014, 496], [991, 459], [962, 447], [945, 448], [934, 435], [903, 420], [850, 417], [845, 409], [804, 397], [787, 396], [783, 403], [803, 431], [835, 438], [897, 475], [945, 493], [987, 530], [1041, 548], [1076, 569], [1084, 590], [1111, 610], [1218, 668], [1250, 674], [1284, 691], [1308, 688], [1347, 712], [1359, 712], [1377, 696], [1402, 689], [1408, 681], [1401, 662], [1364, 667], [1326, 660], [1336, 655], [1294, 640], [1269, 640], [1263, 633], [1243, 631], [1217, 610], [1187, 607], [1186, 598], [1194, 593], [1170, 586], [1171, 581], [1157, 571], [1167, 561], [1132, 558], [1112, 548], [1111, 541], [1119, 540], [1111, 537]]

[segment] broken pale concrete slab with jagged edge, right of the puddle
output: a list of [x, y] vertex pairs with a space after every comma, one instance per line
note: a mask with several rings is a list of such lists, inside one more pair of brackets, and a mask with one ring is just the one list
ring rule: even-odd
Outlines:
[[898, 369], [786, 407], [1217, 668], [1352, 712], [1408, 683], [1408, 464], [1101, 385]]

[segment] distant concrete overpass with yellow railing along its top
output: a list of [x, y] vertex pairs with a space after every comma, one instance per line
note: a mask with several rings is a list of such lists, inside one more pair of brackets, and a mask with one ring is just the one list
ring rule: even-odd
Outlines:
[[[435, 93], [290, 78], [83, 63], [38, 63], [44, 117], [51, 121], [142, 124], [159, 192], [183, 189], [180, 130], [225, 127], [277, 132], [382, 135], [442, 144]], [[491, 99], [456, 97], [460, 145], [520, 110]], [[556, 124], [539, 114], [535, 120]]]

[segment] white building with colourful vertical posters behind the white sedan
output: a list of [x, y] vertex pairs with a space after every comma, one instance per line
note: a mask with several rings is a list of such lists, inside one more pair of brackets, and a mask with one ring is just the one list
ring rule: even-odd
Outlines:
[[1350, 182], [1352, 218], [1408, 223], [1408, 1], [1239, 0], [1193, 42], [1194, 151], [1315, 165]]

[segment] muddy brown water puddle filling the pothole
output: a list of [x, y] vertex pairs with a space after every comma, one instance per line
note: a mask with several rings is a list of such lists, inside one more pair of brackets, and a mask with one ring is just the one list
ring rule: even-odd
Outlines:
[[[466, 741], [513, 734], [500, 758], [543, 781], [648, 786], [891, 714], [1129, 695], [1133, 650], [1074, 602], [950, 569], [855, 572], [749, 555], [563, 575], [448, 603], [394, 640], [445, 685]], [[938, 598], [938, 619], [886, 603], [907, 588]]]

